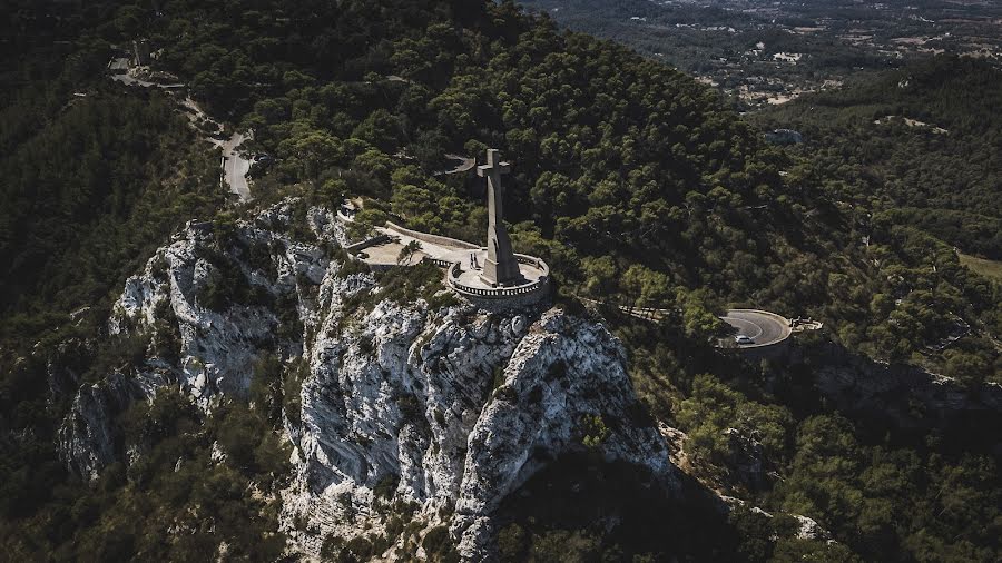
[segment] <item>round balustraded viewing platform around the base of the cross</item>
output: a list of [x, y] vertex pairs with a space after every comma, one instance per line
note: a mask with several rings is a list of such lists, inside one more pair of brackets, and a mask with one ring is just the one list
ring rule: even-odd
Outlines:
[[547, 263], [533, 256], [515, 254], [521, 279], [513, 284], [494, 286], [481, 277], [487, 255], [487, 248], [480, 248], [455, 256], [459, 259], [449, 266], [445, 274], [449, 287], [464, 297], [474, 299], [517, 299], [522, 304], [529, 304], [546, 297], [550, 284], [550, 268]]

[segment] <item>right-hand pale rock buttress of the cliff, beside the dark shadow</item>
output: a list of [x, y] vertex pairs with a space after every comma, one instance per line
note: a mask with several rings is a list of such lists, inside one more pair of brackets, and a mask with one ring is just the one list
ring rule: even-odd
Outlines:
[[[492, 537], [485, 516], [542, 463], [581, 450], [589, 435], [601, 439], [607, 460], [642, 465], [676, 486], [667, 444], [657, 428], [638, 424], [619, 344], [603, 327], [557, 313], [533, 327], [539, 332], [519, 343], [468, 441], [453, 530], [462, 532], [462, 552], [478, 559]], [[591, 427], [596, 419], [607, 426]]]

